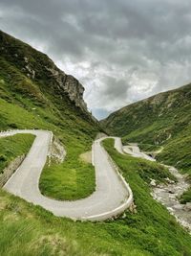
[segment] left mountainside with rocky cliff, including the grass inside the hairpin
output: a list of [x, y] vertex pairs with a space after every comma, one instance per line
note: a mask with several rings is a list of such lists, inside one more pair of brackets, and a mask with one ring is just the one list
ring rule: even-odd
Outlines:
[[65, 145], [66, 161], [47, 166], [40, 181], [52, 198], [84, 198], [95, 190], [93, 167], [79, 159], [99, 131], [83, 91], [46, 55], [0, 32], [0, 130], [49, 129]]

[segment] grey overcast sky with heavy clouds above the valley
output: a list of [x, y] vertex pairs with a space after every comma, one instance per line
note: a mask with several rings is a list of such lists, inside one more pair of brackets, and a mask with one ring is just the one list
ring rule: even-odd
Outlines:
[[190, 0], [0, 0], [0, 29], [74, 75], [99, 119], [191, 81]]

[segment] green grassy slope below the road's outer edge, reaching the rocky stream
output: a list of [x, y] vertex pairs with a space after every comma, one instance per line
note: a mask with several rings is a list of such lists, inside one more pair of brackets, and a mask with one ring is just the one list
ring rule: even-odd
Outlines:
[[156, 163], [118, 154], [112, 140], [104, 146], [130, 183], [138, 213], [127, 211], [126, 217], [117, 221], [74, 222], [53, 217], [41, 207], [0, 190], [0, 255], [191, 254], [190, 236], [150, 196], [149, 177], [161, 180], [169, 175], [166, 170]]

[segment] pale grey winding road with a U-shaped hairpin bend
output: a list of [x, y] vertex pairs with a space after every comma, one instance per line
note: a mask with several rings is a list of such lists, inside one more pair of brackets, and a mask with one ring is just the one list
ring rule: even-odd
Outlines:
[[[41, 172], [49, 155], [53, 133], [45, 130], [12, 130], [1, 132], [0, 137], [17, 133], [32, 133], [36, 137], [25, 160], [5, 184], [6, 191], [42, 206], [55, 216], [84, 221], [107, 220], [121, 214], [133, 203], [131, 188], [101, 146], [101, 141], [105, 138], [97, 139], [93, 144], [96, 192], [84, 199], [59, 201], [44, 197], [38, 187]], [[115, 139], [117, 151], [123, 153], [120, 139], [112, 138]]]

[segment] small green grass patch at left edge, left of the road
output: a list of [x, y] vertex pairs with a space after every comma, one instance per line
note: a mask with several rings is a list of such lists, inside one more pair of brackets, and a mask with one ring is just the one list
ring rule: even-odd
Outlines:
[[12, 160], [26, 154], [31, 149], [34, 137], [32, 134], [0, 137], [0, 174]]

